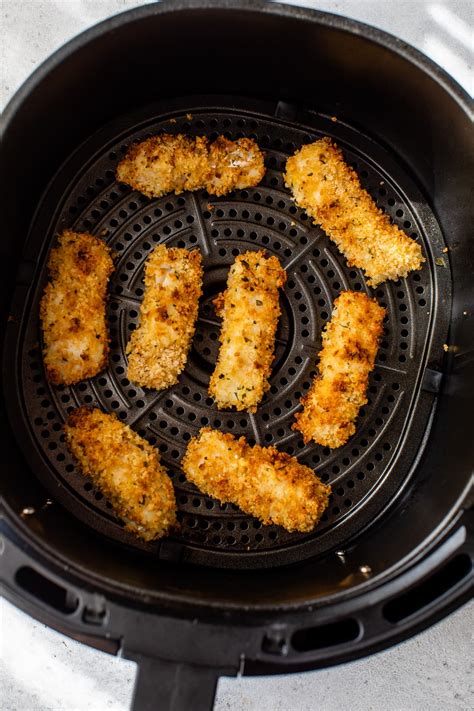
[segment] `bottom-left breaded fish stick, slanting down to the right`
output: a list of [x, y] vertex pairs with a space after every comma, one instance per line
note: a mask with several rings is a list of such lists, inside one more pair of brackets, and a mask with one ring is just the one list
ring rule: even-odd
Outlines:
[[115, 415], [86, 407], [70, 414], [64, 431], [82, 473], [110, 501], [126, 529], [151, 541], [176, 526], [173, 485], [151, 444]]

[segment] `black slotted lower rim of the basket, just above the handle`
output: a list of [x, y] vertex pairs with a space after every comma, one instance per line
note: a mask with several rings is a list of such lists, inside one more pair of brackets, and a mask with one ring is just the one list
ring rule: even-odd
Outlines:
[[[6, 599], [53, 629], [102, 651], [120, 654], [139, 663], [148, 657], [184, 664], [198, 663], [213, 666], [216, 675], [224, 676], [300, 672], [353, 661], [381, 651], [418, 634], [468, 602], [473, 592], [472, 571], [431, 604], [396, 624], [390, 624], [384, 615], [388, 603], [405, 595], [410, 588], [418, 587], [424, 579], [431, 580], [433, 573], [443, 568], [450, 559], [459, 556], [465, 560], [472, 559], [473, 526], [472, 511], [459, 514], [438, 537], [429, 553], [425, 551], [419, 561], [407, 565], [403, 572], [397, 571], [396, 575], [381, 581], [377, 587], [368, 585], [360, 595], [338, 600], [336, 604], [322, 608], [301, 605], [295, 609], [261, 610], [257, 614], [250, 610], [208, 610], [198, 616], [199, 625], [196, 625], [195, 605], [194, 609], [189, 606], [187, 611], [183, 607], [170, 611], [150, 605], [150, 601], [143, 598], [132, 601], [131, 597], [117, 597], [116, 591], [109, 595], [102, 589], [104, 595], [98, 594], [98, 588], [91, 586], [90, 580], [87, 583], [81, 581], [76, 575], [71, 575], [72, 571], [56, 569], [53, 573], [51, 564], [42, 554], [33, 552], [30, 546], [24, 547], [17, 537], [18, 529], [13, 530], [0, 520], [0, 531], [5, 536], [7, 550], [7, 565], [0, 590]], [[25, 594], [10, 578], [9, 563], [12, 570], [24, 563], [32, 565], [40, 574], [44, 571], [48, 579], [64, 585], [73, 596], [77, 595], [78, 608], [70, 616], [57, 614], [48, 604]], [[105, 624], [88, 624], [84, 611], [102, 605], [106, 611]], [[355, 639], [303, 653], [291, 647], [296, 631], [347, 620], [356, 620], [359, 624]], [[181, 633], [176, 633], [176, 639], [170, 645], [174, 625], [181, 628]], [[209, 635], [205, 643], [206, 658], [203, 658], [202, 650], [196, 652], [188, 648], [186, 638], [190, 633], [200, 640]], [[160, 639], [158, 643], [157, 635]], [[216, 636], [220, 642], [213, 639]], [[267, 649], [268, 639], [275, 638], [277, 641], [284, 639], [290, 649], [286, 648], [283, 653]], [[223, 639], [228, 640], [228, 645], [226, 642], [223, 646]]]

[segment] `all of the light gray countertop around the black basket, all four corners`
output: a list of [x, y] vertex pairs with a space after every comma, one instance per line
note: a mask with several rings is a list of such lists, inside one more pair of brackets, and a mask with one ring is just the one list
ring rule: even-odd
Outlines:
[[[133, 0], [2, 0], [0, 106], [28, 74], [81, 30]], [[473, 93], [470, 0], [319, 0], [293, 3], [398, 35]], [[223, 679], [216, 711], [468, 711], [474, 708], [472, 623], [465, 607], [416, 638], [369, 659], [272, 678]], [[135, 665], [89, 649], [0, 607], [2, 711], [125, 711]], [[192, 711], [192, 709], [190, 709]]]

